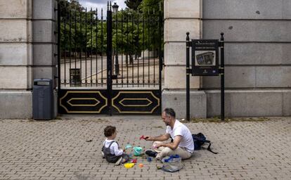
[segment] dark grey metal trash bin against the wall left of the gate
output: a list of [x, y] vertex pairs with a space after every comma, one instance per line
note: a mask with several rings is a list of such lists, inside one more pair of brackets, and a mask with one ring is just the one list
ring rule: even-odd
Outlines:
[[52, 79], [34, 79], [32, 91], [32, 115], [34, 120], [53, 119]]

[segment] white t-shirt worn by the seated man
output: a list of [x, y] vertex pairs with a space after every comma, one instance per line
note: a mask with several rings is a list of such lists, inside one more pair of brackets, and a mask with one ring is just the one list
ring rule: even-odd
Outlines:
[[175, 121], [173, 129], [170, 126], [167, 126], [166, 133], [170, 134], [172, 139], [174, 139], [175, 136], [182, 136], [179, 147], [186, 148], [188, 152], [193, 153], [194, 141], [192, 134], [188, 127], [179, 122], [179, 120]]

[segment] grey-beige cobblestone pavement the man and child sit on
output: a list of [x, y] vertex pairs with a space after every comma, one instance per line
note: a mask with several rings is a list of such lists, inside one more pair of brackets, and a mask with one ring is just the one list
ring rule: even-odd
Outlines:
[[[291, 179], [291, 118], [257, 122], [188, 122], [212, 143], [183, 161], [180, 172], [138, 157], [131, 169], [101, 158], [106, 125], [117, 127], [117, 141], [149, 148], [141, 135], [164, 134], [160, 117], [61, 117], [60, 120], [0, 120], [0, 179]], [[92, 141], [91, 141], [92, 140]]]

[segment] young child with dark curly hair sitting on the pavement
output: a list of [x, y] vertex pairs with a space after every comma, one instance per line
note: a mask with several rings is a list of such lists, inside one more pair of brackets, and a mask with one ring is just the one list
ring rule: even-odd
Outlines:
[[129, 155], [125, 154], [123, 150], [119, 148], [117, 141], [114, 141], [117, 135], [116, 127], [105, 127], [104, 135], [106, 139], [102, 147], [103, 158], [108, 162], [115, 163], [115, 165], [127, 162], [129, 160]]

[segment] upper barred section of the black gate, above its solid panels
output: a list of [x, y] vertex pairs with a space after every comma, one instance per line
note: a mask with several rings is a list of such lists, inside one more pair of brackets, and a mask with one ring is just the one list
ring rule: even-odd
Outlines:
[[[58, 4], [58, 88], [162, 84], [162, 15]], [[106, 53], [107, 57], [104, 57]], [[107, 72], [107, 73], [106, 73]]]

